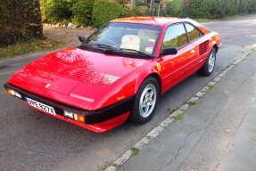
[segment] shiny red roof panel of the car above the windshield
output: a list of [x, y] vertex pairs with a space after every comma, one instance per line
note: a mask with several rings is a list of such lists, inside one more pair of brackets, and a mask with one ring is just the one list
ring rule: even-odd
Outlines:
[[189, 19], [175, 18], [175, 17], [129, 17], [111, 20], [112, 22], [128, 22], [137, 24], [149, 24], [155, 26], [166, 26], [172, 23], [191, 21]]

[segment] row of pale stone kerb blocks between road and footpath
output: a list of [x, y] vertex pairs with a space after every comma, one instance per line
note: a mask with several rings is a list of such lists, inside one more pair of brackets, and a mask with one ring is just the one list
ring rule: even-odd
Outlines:
[[[168, 118], [163, 120], [159, 126], [156, 126], [153, 128], [151, 132], [149, 132], [144, 138], [142, 138], [139, 142], [136, 142], [136, 144], [133, 146], [139, 151], [143, 150], [144, 147], [152, 141], [155, 137], [157, 137], [161, 132], [166, 129], [171, 123], [175, 121], [174, 117], [178, 115], [184, 115], [186, 113], [186, 110], [189, 109], [189, 107], [198, 101], [199, 98], [202, 98], [202, 96], [205, 93], [209, 93], [211, 91], [211, 88], [213, 88], [222, 77], [225, 77], [227, 72], [235, 67], [239, 62], [244, 61], [249, 55], [256, 52], [256, 49], [252, 49], [249, 53], [245, 53], [242, 57], [240, 57], [238, 60], [233, 62], [231, 65], [227, 67], [222, 73], [219, 74], [218, 77], [215, 77], [208, 85], [204, 86], [201, 91], [197, 92], [194, 97], [189, 99], [186, 104], [178, 108], [175, 112], [171, 113]], [[120, 159], [117, 159], [113, 165], [107, 167], [104, 169], [104, 171], [117, 171], [118, 168], [123, 165], [128, 159], [130, 159], [133, 156], [133, 151], [129, 150], [124, 155], [120, 157]]]

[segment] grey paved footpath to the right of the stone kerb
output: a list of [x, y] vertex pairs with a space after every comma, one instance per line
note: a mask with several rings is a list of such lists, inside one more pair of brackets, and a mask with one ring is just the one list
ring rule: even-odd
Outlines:
[[231, 65], [183, 119], [165, 126], [119, 171], [255, 170], [255, 63], [256, 51]]

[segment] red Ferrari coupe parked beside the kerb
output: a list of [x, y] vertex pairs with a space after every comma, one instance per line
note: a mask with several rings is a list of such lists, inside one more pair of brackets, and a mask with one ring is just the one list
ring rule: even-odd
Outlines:
[[197, 71], [210, 76], [219, 34], [189, 19], [111, 20], [77, 47], [47, 54], [16, 72], [8, 94], [63, 121], [103, 133], [145, 124], [161, 94]]

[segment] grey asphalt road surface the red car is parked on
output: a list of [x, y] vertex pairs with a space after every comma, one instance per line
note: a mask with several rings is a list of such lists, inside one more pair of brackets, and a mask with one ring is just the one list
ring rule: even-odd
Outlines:
[[[102, 170], [128, 151], [153, 127], [169, 116], [255, 44], [256, 15], [213, 22], [223, 47], [211, 77], [194, 74], [161, 96], [153, 119], [144, 126], [126, 123], [105, 134], [95, 134], [46, 116], [23, 105], [0, 88], [0, 170]], [[41, 53], [0, 61], [0, 85]]]

